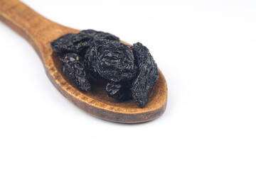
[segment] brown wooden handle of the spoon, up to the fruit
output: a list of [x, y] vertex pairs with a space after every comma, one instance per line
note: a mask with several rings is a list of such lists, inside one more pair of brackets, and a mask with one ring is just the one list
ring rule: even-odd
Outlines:
[[0, 0], [0, 21], [28, 40], [41, 60], [44, 45], [65, 34], [66, 30], [73, 30], [48, 20], [18, 0]]

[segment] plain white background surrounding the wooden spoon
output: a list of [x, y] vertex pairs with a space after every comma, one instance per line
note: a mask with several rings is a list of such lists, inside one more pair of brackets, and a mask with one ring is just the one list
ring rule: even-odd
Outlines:
[[94, 118], [0, 23], [0, 169], [256, 169], [256, 1], [23, 2], [64, 26], [142, 42], [168, 103], [149, 123]]

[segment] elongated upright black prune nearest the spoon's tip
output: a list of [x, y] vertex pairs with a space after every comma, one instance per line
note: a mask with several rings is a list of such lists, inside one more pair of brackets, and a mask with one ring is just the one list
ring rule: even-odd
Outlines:
[[159, 70], [149, 49], [142, 43], [135, 43], [132, 51], [139, 67], [139, 75], [132, 83], [132, 98], [137, 106], [144, 108], [148, 103], [149, 91], [158, 79]]

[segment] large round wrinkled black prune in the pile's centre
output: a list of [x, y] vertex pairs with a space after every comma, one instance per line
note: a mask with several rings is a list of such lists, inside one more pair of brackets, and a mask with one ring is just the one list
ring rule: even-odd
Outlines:
[[128, 81], [137, 74], [132, 50], [122, 42], [95, 40], [87, 52], [92, 72], [100, 77], [114, 81]]

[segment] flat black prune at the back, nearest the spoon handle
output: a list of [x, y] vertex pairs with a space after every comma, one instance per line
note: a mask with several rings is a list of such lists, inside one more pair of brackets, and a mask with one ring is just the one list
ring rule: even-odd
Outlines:
[[69, 33], [67, 35], [63, 35], [57, 40], [50, 42], [50, 45], [54, 52], [74, 52], [83, 56], [95, 38], [119, 41], [119, 38], [110, 33], [104, 33], [96, 30], [82, 30], [77, 34]]

